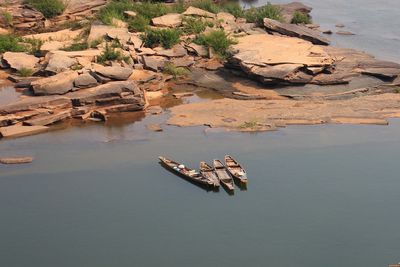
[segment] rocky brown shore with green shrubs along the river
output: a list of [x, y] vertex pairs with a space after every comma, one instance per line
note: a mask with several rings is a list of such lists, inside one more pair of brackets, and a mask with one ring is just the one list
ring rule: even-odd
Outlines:
[[[299, 14], [310, 18], [311, 8], [300, 3], [247, 11], [151, 4], [157, 6], [148, 9], [168, 10], [151, 19], [140, 3], [69, 1], [52, 18], [26, 1], [0, 4], [11, 16], [0, 21], [2, 38], [16, 40], [5, 48], [0, 43], [2, 68], [22, 92], [0, 105], [0, 137], [154, 109], [153, 100], [176, 85], [225, 97], [170, 108], [168, 123], [178, 126], [261, 131], [387, 124], [400, 115], [400, 64], [331, 46], [318, 25], [294, 23]], [[122, 15], [101, 17], [112, 5]], [[263, 8], [277, 17], [264, 17]], [[150, 24], [139, 30], [142, 17]]]

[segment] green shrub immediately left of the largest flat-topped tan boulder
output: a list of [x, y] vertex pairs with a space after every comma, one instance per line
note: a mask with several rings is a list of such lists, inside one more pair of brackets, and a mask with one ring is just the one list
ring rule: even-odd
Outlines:
[[194, 42], [205, 47], [211, 47], [221, 58], [228, 57], [230, 55], [230, 46], [237, 43], [236, 40], [230, 38], [223, 30], [200, 34]]

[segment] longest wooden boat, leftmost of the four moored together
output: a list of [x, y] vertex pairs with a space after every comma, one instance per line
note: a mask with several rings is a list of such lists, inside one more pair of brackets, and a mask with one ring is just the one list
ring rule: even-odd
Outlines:
[[171, 170], [172, 172], [174, 172], [177, 175], [180, 175], [181, 177], [201, 184], [201, 185], [206, 185], [206, 186], [213, 186], [214, 182], [208, 180], [207, 178], [203, 177], [199, 172], [197, 172], [196, 170], [193, 169], [189, 169], [188, 167], [186, 167], [185, 165], [178, 163], [176, 161], [167, 159], [165, 157], [158, 157], [161, 161], [161, 163], [168, 168], [169, 170]]

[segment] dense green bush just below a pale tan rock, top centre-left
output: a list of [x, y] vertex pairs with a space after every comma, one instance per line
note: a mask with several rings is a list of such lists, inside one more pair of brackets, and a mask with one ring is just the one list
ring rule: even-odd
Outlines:
[[161, 45], [169, 49], [179, 43], [181, 31], [177, 29], [147, 29], [141, 35], [145, 47], [155, 47]]

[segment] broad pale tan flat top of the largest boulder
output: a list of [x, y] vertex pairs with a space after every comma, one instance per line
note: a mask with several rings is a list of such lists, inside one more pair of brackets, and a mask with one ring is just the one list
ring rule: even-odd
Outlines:
[[322, 47], [298, 38], [253, 34], [237, 40], [233, 59], [245, 64], [327, 66], [334, 62]]

